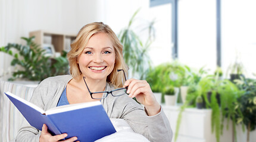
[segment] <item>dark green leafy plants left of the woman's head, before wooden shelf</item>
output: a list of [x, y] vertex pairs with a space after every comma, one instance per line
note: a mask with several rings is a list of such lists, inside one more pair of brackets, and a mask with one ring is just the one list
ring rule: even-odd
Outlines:
[[[7, 46], [1, 47], [0, 51], [10, 54], [14, 59], [11, 66], [20, 66], [13, 72], [13, 78], [41, 81], [49, 76], [64, 75], [68, 73], [68, 61], [64, 52], [60, 57], [50, 58], [45, 56], [45, 50], [41, 49], [38, 44], [33, 42], [35, 37], [21, 37], [26, 41], [26, 45], [8, 43]], [[17, 50], [13, 53], [12, 49]]]

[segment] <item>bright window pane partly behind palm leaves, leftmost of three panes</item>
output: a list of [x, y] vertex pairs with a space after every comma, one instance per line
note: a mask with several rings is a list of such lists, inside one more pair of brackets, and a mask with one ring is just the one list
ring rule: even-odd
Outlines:
[[149, 56], [157, 66], [171, 61], [171, 4], [164, 4], [149, 9], [151, 17], [155, 17], [155, 41], [151, 45]]

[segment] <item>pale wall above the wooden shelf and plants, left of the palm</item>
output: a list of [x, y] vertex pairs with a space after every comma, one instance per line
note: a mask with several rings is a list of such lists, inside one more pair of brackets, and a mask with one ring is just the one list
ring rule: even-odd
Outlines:
[[[82, 25], [101, 19], [99, 2], [0, 0], [0, 47], [8, 43], [25, 44], [20, 37], [29, 37], [29, 32], [35, 30], [77, 34]], [[8, 54], [0, 53], [1, 80], [10, 78], [10, 73], [4, 74], [15, 70], [10, 66], [11, 60]]]

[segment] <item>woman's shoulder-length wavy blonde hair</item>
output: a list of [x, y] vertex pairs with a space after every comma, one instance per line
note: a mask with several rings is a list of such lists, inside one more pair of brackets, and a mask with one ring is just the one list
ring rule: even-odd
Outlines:
[[127, 66], [123, 59], [123, 46], [111, 28], [103, 22], [92, 22], [83, 26], [77, 34], [76, 40], [70, 44], [71, 50], [67, 54], [70, 65], [70, 74], [74, 79], [79, 78], [81, 71], [77, 64], [77, 57], [82, 53], [84, 47], [88, 44], [90, 37], [96, 33], [106, 33], [110, 37], [115, 51], [115, 65], [113, 71], [107, 76], [107, 82], [110, 82], [115, 88], [123, 87], [123, 72], [118, 73], [117, 69], [123, 69], [127, 74]]

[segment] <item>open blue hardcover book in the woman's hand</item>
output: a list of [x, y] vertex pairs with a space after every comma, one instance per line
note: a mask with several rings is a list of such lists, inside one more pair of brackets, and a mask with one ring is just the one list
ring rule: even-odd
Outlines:
[[99, 101], [63, 105], [43, 111], [13, 93], [5, 92], [5, 95], [30, 125], [42, 130], [43, 124], [46, 124], [52, 135], [67, 133], [65, 139], [76, 136], [79, 141], [90, 142], [116, 132]]

